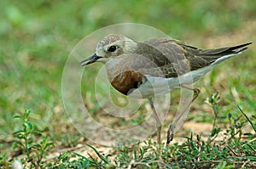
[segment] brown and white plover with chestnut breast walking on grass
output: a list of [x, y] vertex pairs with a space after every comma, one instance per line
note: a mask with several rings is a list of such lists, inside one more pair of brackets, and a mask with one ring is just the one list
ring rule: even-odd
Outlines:
[[[157, 143], [160, 144], [162, 124], [154, 108], [154, 96], [182, 87], [194, 92], [188, 105], [192, 104], [200, 93], [193, 83], [225, 59], [241, 54], [251, 43], [201, 49], [170, 37], [136, 42], [121, 34], [109, 34], [97, 43], [96, 53], [80, 64], [103, 63], [108, 81], [119, 93], [148, 99], [156, 124]], [[185, 107], [179, 115], [182, 116], [188, 108]], [[166, 144], [172, 141], [175, 127], [173, 121], [167, 131]]]

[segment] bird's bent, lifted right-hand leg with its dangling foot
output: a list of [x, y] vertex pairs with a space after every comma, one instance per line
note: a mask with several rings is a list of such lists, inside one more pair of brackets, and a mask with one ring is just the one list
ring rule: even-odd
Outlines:
[[[178, 113], [179, 116], [177, 117], [177, 120], [180, 119], [181, 116], [189, 109], [189, 105], [192, 104], [195, 101], [195, 99], [198, 97], [198, 95], [200, 93], [200, 89], [196, 88], [196, 87], [192, 87], [192, 86], [184, 85], [184, 84], [181, 85], [181, 87], [189, 89], [189, 90], [193, 90], [194, 91], [194, 95], [193, 95], [193, 99], [187, 105], [187, 107], [185, 109], [183, 109], [183, 111], [181, 113]], [[175, 121], [173, 123], [175, 123]], [[167, 131], [167, 141], [166, 141], [166, 144], [170, 144], [170, 142], [172, 141], [173, 136], [174, 136], [174, 129], [175, 129], [175, 125], [171, 124], [169, 129], [168, 129], [168, 131]]]

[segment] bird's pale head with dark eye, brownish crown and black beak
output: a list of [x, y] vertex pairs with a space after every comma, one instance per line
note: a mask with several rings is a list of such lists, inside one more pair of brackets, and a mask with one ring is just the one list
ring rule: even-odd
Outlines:
[[106, 63], [109, 59], [122, 54], [131, 54], [137, 48], [137, 42], [123, 35], [110, 34], [104, 37], [96, 46], [96, 54], [81, 61], [82, 65], [90, 65], [94, 62]]

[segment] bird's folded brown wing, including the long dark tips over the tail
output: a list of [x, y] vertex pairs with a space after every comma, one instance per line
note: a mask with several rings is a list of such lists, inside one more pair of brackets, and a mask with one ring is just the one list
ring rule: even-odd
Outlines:
[[[152, 60], [160, 67], [166, 77], [173, 77], [183, 75], [190, 70], [201, 69], [225, 55], [238, 54], [251, 43], [227, 48], [201, 49], [186, 45], [175, 39], [160, 38], [138, 44], [138, 54]], [[152, 68], [152, 65], [144, 65], [146, 69], [149, 69], [150, 66]], [[154, 76], [152, 70], [149, 75]]]

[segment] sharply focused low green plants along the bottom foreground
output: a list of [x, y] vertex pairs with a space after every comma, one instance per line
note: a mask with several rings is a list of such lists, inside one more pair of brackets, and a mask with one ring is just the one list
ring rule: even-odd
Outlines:
[[[217, 95], [216, 95], [217, 96]], [[214, 109], [218, 109], [218, 97], [212, 97], [209, 101]], [[55, 145], [48, 141], [47, 136], [42, 136], [42, 132], [35, 129], [35, 125], [30, 121], [30, 110], [24, 110], [21, 115], [15, 118], [22, 121], [22, 126], [14, 132], [15, 143], [12, 151], [20, 152], [25, 156], [19, 158], [27, 168], [234, 168], [256, 166], [256, 117], [251, 120], [240, 107], [241, 115], [238, 117], [229, 115], [230, 127], [223, 131], [214, 123], [212, 132], [207, 140], [203, 140], [200, 135], [193, 138], [184, 137], [187, 140], [183, 144], [155, 144], [150, 139], [143, 144], [138, 143], [131, 148], [119, 144], [114, 147], [115, 155], [104, 155], [95, 147], [86, 144], [95, 155], [87, 153], [87, 156], [76, 152], [66, 151], [55, 157], [51, 161], [43, 161], [49, 155], [49, 150]], [[242, 116], [245, 118], [242, 119]], [[249, 134], [244, 139], [242, 128], [249, 123], [253, 127], [254, 134]], [[224, 138], [217, 141], [216, 138], [224, 132]], [[38, 141], [38, 139], [41, 139]], [[8, 154], [3, 154], [0, 158], [0, 165], [9, 166]], [[114, 156], [113, 161], [109, 157]]]

